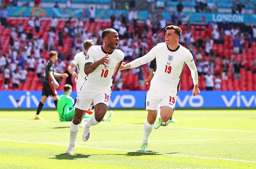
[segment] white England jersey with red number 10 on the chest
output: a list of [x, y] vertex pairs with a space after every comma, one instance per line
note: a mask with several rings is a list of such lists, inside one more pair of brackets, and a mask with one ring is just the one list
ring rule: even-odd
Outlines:
[[[85, 63], [95, 63], [106, 55], [107, 52], [104, 51], [102, 46], [91, 46], [86, 55]], [[125, 55], [120, 49], [115, 49], [113, 52], [109, 53], [109, 64], [107, 66], [99, 65], [95, 71], [87, 75], [80, 92], [111, 90], [114, 68], [124, 57]]]

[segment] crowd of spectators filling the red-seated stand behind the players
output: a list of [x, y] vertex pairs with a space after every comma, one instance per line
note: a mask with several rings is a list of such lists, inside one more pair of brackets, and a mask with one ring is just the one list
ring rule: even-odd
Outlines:
[[[183, 7], [177, 6], [177, 8], [182, 11]], [[3, 13], [5, 9], [2, 10]], [[164, 42], [164, 28], [167, 25], [178, 25], [185, 28], [179, 43], [189, 49], [195, 57], [198, 75], [204, 77], [206, 90], [220, 90], [221, 79], [226, 80], [228, 74], [231, 73], [229, 72], [230, 65], [233, 65], [232, 74], [234, 77], [232, 78], [240, 79], [239, 71], [244, 67], [244, 61], [236, 60], [236, 57], [227, 58], [223, 56], [220, 58], [213, 47], [214, 44], [224, 44], [224, 38], [229, 37], [234, 44], [234, 55], [241, 54], [243, 49], [250, 48], [253, 41], [256, 41], [256, 27], [251, 27], [253, 32], [251, 35], [248, 32], [242, 32], [239, 27], [235, 27], [229, 22], [226, 22], [222, 27], [218, 26], [217, 23], [209, 22], [204, 29], [200, 30], [200, 33], [204, 32], [203, 35], [199, 35], [195, 39], [193, 33], [198, 30], [192, 30], [192, 25], [189, 22], [182, 25], [179, 14], [175, 16], [175, 14], [170, 13], [171, 20], [165, 20], [161, 14], [158, 14], [156, 21], [151, 16], [145, 21], [139, 20], [135, 10], [129, 10], [128, 16], [122, 14], [117, 18], [114, 14], [111, 15], [111, 27], [119, 33], [120, 43], [118, 48], [125, 53], [124, 60], [130, 62], [137, 57], [142, 57], [153, 46]], [[29, 18], [27, 32], [23, 30], [22, 24], [17, 27], [7, 25], [7, 17], [1, 18], [1, 24], [11, 30], [8, 53], [4, 53], [0, 48], [0, 72], [4, 74], [5, 90], [8, 89], [11, 77], [13, 88], [19, 85], [19, 80], [24, 83], [28, 71], [36, 72], [38, 78], [41, 78], [47, 63], [43, 51], [58, 50], [58, 46], [63, 46], [64, 38], [72, 38], [71, 55], [65, 55], [62, 50], [58, 51], [59, 59], [56, 62], [56, 71], [58, 73], [64, 73], [72, 57], [77, 52], [83, 51], [83, 41], [92, 39], [96, 45], [103, 44], [101, 33], [107, 27], [102, 26], [97, 30], [94, 27], [88, 29], [88, 27], [84, 26], [85, 22], [95, 22], [95, 9], [93, 8], [90, 8], [88, 21], [82, 18], [69, 18], [63, 28], [56, 30], [58, 22], [59, 20], [54, 16], [50, 18], [48, 41], [45, 42], [39, 33], [41, 18]], [[58, 41], [58, 46], [55, 46], [55, 41]], [[216, 72], [217, 57], [221, 60], [221, 65], [219, 65], [221, 70]], [[256, 66], [256, 60], [253, 63]], [[133, 74], [138, 74], [140, 87], [144, 87], [143, 74], [147, 70], [143, 66], [132, 70]], [[252, 71], [256, 73], [256, 69]], [[116, 90], [122, 89], [121, 72], [117, 74], [114, 83]]]

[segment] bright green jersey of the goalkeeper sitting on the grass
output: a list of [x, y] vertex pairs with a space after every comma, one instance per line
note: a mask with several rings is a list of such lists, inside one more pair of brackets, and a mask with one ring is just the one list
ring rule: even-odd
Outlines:
[[70, 109], [73, 109], [74, 99], [67, 94], [62, 94], [58, 98], [57, 111], [60, 117], [60, 120], [64, 120], [66, 115], [70, 112]]

